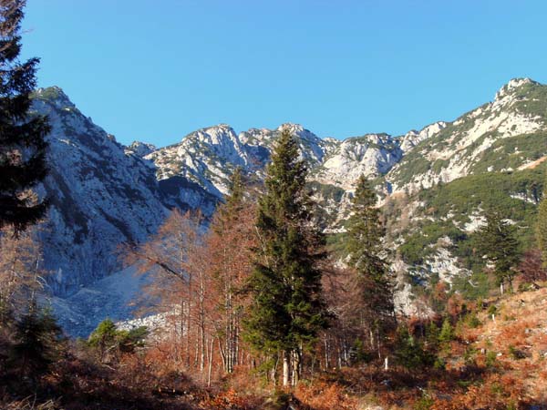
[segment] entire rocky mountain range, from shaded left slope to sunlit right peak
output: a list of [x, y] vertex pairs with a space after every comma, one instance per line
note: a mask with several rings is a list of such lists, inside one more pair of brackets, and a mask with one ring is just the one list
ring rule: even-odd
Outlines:
[[[344, 230], [358, 175], [374, 179], [394, 268], [411, 272], [414, 282], [473, 271], [467, 241], [487, 206], [503, 205], [508, 219], [529, 227], [547, 156], [547, 87], [527, 78], [511, 80], [493, 102], [453, 122], [398, 137], [319, 138], [295, 124], [237, 134], [222, 124], [165, 148], [138, 141], [124, 147], [58, 87], [38, 90], [34, 109], [49, 115], [54, 129], [55, 167], [44, 184], [54, 201], [43, 242], [46, 268], [55, 272], [50, 285], [63, 297], [118, 271], [119, 243], [144, 241], [169, 209], [211, 215], [233, 169], [262, 180], [282, 128], [297, 136], [307, 159], [326, 231]], [[526, 243], [529, 234], [521, 232]], [[401, 281], [398, 292], [407, 309], [409, 286]]]

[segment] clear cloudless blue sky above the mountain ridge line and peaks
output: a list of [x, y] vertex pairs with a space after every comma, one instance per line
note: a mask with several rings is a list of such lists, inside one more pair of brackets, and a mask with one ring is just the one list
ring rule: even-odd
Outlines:
[[28, 0], [40, 87], [128, 144], [228, 123], [403, 134], [547, 82], [547, 1]]

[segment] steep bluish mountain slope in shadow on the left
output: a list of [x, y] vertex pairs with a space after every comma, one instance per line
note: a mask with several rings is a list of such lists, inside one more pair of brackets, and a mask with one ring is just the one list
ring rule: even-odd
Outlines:
[[146, 240], [168, 207], [212, 210], [211, 197], [189, 181], [159, 183], [152, 162], [93, 124], [60, 88], [38, 90], [33, 110], [46, 114], [53, 127], [51, 170], [43, 184], [51, 207], [41, 236], [55, 294], [77, 292], [118, 270], [119, 244]]

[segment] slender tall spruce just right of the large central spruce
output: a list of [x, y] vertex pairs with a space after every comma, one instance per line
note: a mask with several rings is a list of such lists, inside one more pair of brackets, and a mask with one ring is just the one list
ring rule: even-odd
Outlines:
[[376, 207], [377, 197], [368, 179], [357, 179], [352, 199], [352, 215], [347, 221], [347, 252], [349, 265], [356, 272], [356, 289], [362, 309], [361, 320], [371, 333], [392, 329], [395, 325], [393, 290], [388, 277], [387, 262], [382, 253], [386, 233]]

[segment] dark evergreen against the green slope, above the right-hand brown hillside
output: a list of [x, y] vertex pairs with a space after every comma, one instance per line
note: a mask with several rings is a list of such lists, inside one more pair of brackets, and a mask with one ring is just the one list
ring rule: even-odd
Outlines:
[[501, 285], [501, 292], [505, 282], [509, 282], [511, 287], [516, 274], [513, 268], [521, 259], [515, 231], [513, 225], [501, 218], [499, 211], [490, 210], [486, 214], [486, 225], [478, 232], [480, 250], [494, 264], [494, 273]]

